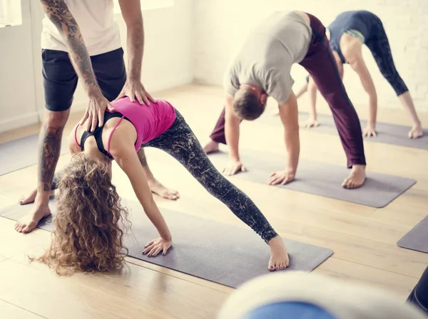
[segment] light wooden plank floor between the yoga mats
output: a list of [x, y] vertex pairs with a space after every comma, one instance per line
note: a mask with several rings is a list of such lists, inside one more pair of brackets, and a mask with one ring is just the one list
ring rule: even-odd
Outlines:
[[[201, 143], [212, 130], [223, 105], [219, 88], [186, 85], [158, 93], [175, 105]], [[300, 101], [304, 110], [307, 100]], [[272, 105], [270, 104], [271, 108]], [[320, 108], [323, 113], [327, 107]], [[357, 108], [367, 118], [365, 108]], [[81, 114], [71, 115], [66, 132]], [[379, 121], [408, 125], [402, 110], [379, 110]], [[428, 115], [422, 115], [425, 126]], [[39, 131], [39, 125], [0, 135], [0, 142]], [[283, 156], [280, 127], [257, 122], [242, 125], [240, 145]], [[345, 164], [336, 136], [302, 131], [301, 158]], [[269, 142], [266, 142], [269, 141]], [[341, 202], [267, 185], [232, 179], [262, 209], [284, 237], [329, 247], [335, 254], [315, 272], [379, 286], [405, 300], [428, 264], [428, 254], [400, 249], [396, 242], [428, 214], [428, 151], [365, 142], [367, 170], [417, 179], [411, 189], [383, 209]], [[156, 197], [159, 206], [243, 226], [228, 209], [205, 192], [180, 164], [158, 150], [147, 150], [153, 173], [164, 184], [178, 189], [181, 199], [168, 202]], [[13, 160], [13, 159], [11, 159]], [[68, 155], [60, 158], [65, 165]], [[116, 164], [115, 164], [116, 165]], [[118, 193], [135, 199], [125, 174], [113, 167]], [[338, 181], [340, 182], [340, 181]], [[18, 201], [36, 183], [36, 166], [0, 177], [0, 206]], [[231, 288], [176, 271], [128, 258], [121, 273], [63, 278], [26, 255], [41, 253], [50, 233], [14, 231], [14, 221], [0, 218], [0, 317], [1, 318], [215, 318]]]

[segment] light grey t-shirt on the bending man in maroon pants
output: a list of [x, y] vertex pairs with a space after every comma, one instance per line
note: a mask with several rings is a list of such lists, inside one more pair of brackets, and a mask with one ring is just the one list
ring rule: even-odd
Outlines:
[[295, 11], [279, 11], [251, 31], [230, 61], [223, 85], [234, 96], [241, 84], [263, 88], [278, 104], [287, 102], [294, 80], [293, 63], [306, 56], [312, 39], [310, 25]]

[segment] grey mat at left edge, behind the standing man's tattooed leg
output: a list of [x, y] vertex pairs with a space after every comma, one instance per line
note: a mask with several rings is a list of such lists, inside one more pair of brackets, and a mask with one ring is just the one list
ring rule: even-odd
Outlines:
[[[61, 154], [68, 150], [67, 144], [66, 138], [63, 138]], [[37, 164], [38, 152], [39, 135], [29, 135], [19, 140], [0, 144], [0, 176]]]

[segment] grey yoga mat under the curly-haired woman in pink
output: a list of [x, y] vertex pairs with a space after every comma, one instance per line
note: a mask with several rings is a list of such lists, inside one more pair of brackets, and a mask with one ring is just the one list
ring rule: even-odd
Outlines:
[[[173, 235], [173, 247], [166, 256], [143, 256], [144, 246], [148, 241], [158, 238], [158, 232], [140, 204], [124, 199], [122, 203], [128, 207], [132, 222], [133, 236], [126, 238], [129, 256], [233, 288], [251, 278], [269, 273], [269, 248], [251, 229], [168, 209], [161, 209], [161, 212]], [[29, 209], [31, 205], [16, 204], [0, 210], [0, 216], [17, 220]], [[54, 201], [51, 211], [56, 211]], [[39, 228], [51, 231], [51, 218], [42, 221]], [[288, 270], [312, 271], [333, 253], [331, 249], [299, 241], [284, 241], [290, 254]]]

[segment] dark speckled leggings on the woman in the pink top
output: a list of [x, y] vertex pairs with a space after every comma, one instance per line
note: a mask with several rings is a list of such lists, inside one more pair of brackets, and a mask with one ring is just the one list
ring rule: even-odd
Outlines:
[[175, 113], [177, 117], [173, 125], [142, 147], [156, 147], [178, 160], [210, 194], [228, 206], [265, 242], [277, 236], [253, 201], [215, 169], [183, 116], [178, 110]]

